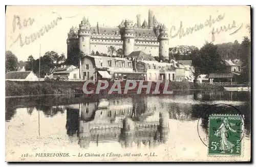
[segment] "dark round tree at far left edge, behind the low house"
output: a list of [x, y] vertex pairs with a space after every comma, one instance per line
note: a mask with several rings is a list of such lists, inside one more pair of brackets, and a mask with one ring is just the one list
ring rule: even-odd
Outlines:
[[18, 58], [11, 52], [5, 52], [5, 73], [17, 70]]

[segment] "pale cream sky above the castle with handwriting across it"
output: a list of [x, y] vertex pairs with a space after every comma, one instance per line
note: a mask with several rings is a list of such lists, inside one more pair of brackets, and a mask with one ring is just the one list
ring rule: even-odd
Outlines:
[[[116, 27], [123, 19], [137, 22], [137, 14], [141, 15], [141, 23], [144, 19], [148, 22], [148, 9], [153, 11], [160, 23], [164, 23], [169, 36], [172, 36], [169, 39], [169, 47], [194, 45], [200, 48], [206, 41], [212, 41], [213, 29], [214, 44], [234, 40], [241, 42], [243, 36], [249, 36], [246, 29], [246, 25], [250, 25], [249, 6], [8, 6], [6, 50], [10, 50], [18, 60], [23, 61], [30, 55], [36, 59], [39, 54], [42, 56], [47, 51], [64, 53], [67, 57], [68, 32], [72, 26], [79, 27], [83, 16], [89, 18], [92, 26], [96, 26], [98, 22], [100, 26]], [[14, 20], [15, 16], [20, 18], [20, 29], [17, 19]], [[61, 20], [57, 19], [58, 17], [61, 17]], [[211, 25], [207, 24], [210, 17], [211, 20], [218, 18], [218, 21]], [[29, 18], [34, 20], [32, 25], [26, 21]], [[33, 33], [40, 32], [42, 27], [56, 19], [57, 25], [40, 38], [33, 41], [27, 38]], [[191, 28], [198, 29], [195, 25], [200, 23], [203, 25], [202, 29], [191, 31]], [[179, 29], [183, 29], [184, 32], [189, 30], [189, 32], [180, 36]], [[220, 30], [223, 31], [220, 32]], [[175, 36], [177, 33], [178, 35]], [[23, 46], [20, 44], [20, 37], [24, 43]]]

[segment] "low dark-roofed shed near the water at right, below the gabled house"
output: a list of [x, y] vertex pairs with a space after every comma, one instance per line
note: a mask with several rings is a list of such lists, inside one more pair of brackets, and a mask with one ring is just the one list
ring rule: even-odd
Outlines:
[[210, 83], [213, 82], [233, 82], [234, 74], [233, 73], [222, 73], [222, 74], [209, 74]]

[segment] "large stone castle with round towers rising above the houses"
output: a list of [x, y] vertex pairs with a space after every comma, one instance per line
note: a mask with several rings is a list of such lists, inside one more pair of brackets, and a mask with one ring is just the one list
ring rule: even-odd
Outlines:
[[68, 59], [72, 51], [83, 51], [86, 55], [92, 52], [108, 53], [108, 47], [114, 46], [116, 50], [122, 49], [123, 56], [134, 51], [142, 51], [151, 56], [164, 56], [169, 59], [169, 38], [165, 25], [160, 24], [151, 10], [141, 25], [141, 15], [137, 15], [137, 22], [122, 20], [118, 27], [93, 27], [89, 18], [83, 17], [79, 28], [72, 27], [68, 33], [67, 49]]

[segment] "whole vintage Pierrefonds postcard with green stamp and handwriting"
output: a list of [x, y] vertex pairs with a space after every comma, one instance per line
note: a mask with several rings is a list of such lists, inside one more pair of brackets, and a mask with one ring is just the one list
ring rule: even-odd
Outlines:
[[250, 161], [250, 13], [7, 6], [6, 161]]

